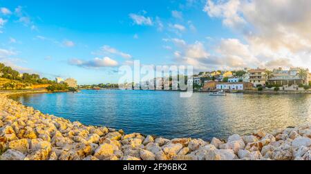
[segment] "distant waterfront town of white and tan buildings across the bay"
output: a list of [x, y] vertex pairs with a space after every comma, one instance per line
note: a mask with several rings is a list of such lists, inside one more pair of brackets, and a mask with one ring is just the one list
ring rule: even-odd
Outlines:
[[[185, 84], [192, 86], [197, 91], [241, 91], [241, 90], [285, 90], [285, 91], [305, 91], [311, 88], [311, 74], [308, 69], [275, 68], [243, 68], [243, 70], [215, 70], [211, 72], [199, 72], [192, 78], [185, 76]], [[142, 81], [140, 84], [124, 83], [126, 89], [144, 90], [186, 90], [180, 88], [180, 76], [177, 83], [173, 77], [158, 77]], [[119, 88], [120, 84], [98, 84], [82, 85], [82, 89], [106, 89]]]

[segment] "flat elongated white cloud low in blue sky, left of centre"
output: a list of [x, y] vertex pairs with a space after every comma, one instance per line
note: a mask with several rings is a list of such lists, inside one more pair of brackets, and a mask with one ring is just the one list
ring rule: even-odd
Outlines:
[[103, 58], [95, 57], [94, 59], [90, 61], [83, 61], [81, 59], [70, 59], [68, 61], [68, 64], [73, 65], [73, 66], [80, 66], [84, 68], [115, 67], [118, 65], [117, 61], [109, 57], [103, 57]]

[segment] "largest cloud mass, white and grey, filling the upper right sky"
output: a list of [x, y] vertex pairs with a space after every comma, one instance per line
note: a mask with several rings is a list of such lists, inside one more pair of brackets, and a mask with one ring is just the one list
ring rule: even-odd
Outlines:
[[311, 68], [311, 1], [209, 0], [204, 11], [242, 35], [263, 66]]

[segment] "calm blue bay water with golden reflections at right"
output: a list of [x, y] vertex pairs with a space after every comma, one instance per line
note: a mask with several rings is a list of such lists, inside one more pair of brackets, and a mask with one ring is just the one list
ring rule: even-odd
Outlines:
[[43, 113], [126, 133], [209, 140], [234, 133], [311, 123], [311, 95], [229, 94], [227, 97], [149, 90], [82, 90], [12, 96]]

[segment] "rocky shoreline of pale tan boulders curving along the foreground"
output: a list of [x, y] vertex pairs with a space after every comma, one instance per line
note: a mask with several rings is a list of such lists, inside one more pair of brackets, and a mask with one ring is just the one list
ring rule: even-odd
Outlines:
[[0, 94], [0, 160], [311, 160], [311, 124], [211, 142], [85, 126]]

